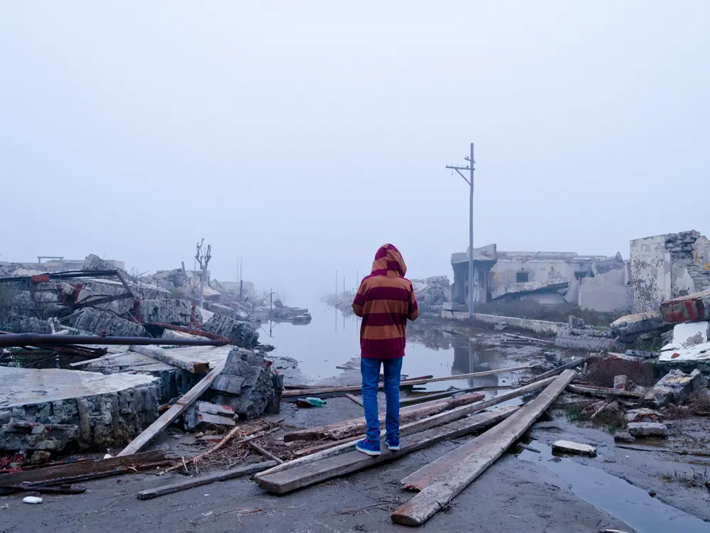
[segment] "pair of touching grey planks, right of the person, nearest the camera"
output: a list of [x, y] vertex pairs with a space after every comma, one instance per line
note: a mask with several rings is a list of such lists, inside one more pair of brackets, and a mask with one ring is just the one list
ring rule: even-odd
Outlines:
[[417, 470], [415, 474], [407, 476], [407, 484], [422, 488], [422, 492], [393, 512], [392, 521], [418, 526], [449, 505], [461, 490], [479, 477], [511, 444], [530, 429], [572, 381], [572, 377], [574, 370], [565, 370], [537, 398], [506, 421], [438, 458], [425, 468]]

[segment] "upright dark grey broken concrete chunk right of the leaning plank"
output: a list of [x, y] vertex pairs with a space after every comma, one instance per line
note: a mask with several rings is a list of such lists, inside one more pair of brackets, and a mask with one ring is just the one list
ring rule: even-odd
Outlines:
[[242, 348], [229, 352], [224, 369], [214, 378], [212, 403], [229, 405], [241, 418], [278, 413], [283, 376], [271, 371], [271, 361]]

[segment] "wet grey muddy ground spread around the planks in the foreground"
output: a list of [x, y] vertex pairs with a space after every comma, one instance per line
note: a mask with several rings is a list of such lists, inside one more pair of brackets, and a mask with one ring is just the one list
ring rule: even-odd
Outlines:
[[[480, 335], [489, 339], [491, 333]], [[491, 359], [483, 357], [484, 364], [503, 367], [525, 359], [544, 360], [540, 347], [507, 350], [495, 350]], [[356, 382], [358, 376], [356, 370], [345, 371], [335, 381]], [[506, 375], [506, 380], [514, 383], [520, 377], [523, 373], [518, 372]], [[361, 407], [347, 398], [330, 398], [327, 402], [320, 409], [297, 409], [295, 404], [284, 403], [280, 415], [283, 424], [308, 427], [361, 416]], [[701, 454], [693, 456], [620, 448], [610, 432], [584, 423], [572, 424], [567, 418], [558, 410], [535, 424], [523, 439], [528, 449], [513, 446], [461, 492], [447, 512], [435, 515], [422, 529], [710, 532], [710, 523], [706, 522], [710, 521], [710, 492], [705, 486], [710, 480], [710, 457], [702, 455], [704, 451], [710, 455], [709, 419], [671, 421], [670, 438], [639, 439], [630, 445]], [[550, 446], [562, 438], [592, 444], [599, 455], [553, 456]], [[41, 505], [23, 504], [23, 495], [0, 497], [0, 532], [405, 531], [408, 528], [392, 524], [390, 519], [391, 511], [411, 497], [400, 489], [400, 480], [465, 440], [439, 443], [398, 461], [284, 496], [268, 495], [255, 483], [237, 479], [141, 501], [136, 498], [137, 492], [185, 477], [179, 473], [161, 477], [139, 473], [84, 483], [88, 490], [82, 495], [45, 495]], [[158, 446], [178, 454], [201, 451], [194, 436], [178, 429], [168, 430], [151, 444], [151, 448]]]

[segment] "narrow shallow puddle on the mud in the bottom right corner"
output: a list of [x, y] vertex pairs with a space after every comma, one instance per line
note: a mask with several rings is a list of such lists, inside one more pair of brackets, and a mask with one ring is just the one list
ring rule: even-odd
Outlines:
[[552, 448], [539, 441], [532, 441], [530, 446], [540, 453], [523, 450], [518, 458], [545, 465], [570, 485], [574, 495], [626, 522], [637, 533], [710, 532], [710, 524], [665, 505], [628, 481], [571, 458], [555, 457]]

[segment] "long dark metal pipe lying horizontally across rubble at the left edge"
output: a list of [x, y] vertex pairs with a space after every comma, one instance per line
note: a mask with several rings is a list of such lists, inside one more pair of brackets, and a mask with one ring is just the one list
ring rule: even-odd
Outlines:
[[6, 333], [0, 335], [0, 348], [16, 346], [62, 346], [77, 344], [97, 345], [171, 345], [224, 346], [229, 339], [154, 339], [150, 337], [101, 337], [99, 335], [45, 335], [40, 333]]

